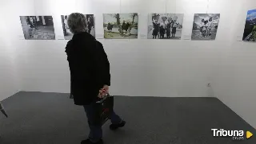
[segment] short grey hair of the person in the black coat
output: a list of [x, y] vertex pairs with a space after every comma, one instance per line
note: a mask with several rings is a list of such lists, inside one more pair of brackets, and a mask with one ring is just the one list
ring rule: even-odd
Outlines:
[[67, 19], [67, 25], [69, 25], [71, 33], [86, 32], [86, 16], [80, 13], [72, 13], [69, 15], [69, 18]]

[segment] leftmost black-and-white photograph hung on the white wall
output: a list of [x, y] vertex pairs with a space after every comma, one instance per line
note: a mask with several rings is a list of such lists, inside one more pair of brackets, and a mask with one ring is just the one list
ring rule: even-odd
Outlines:
[[55, 40], [52, 16], [20, 16], [26, 40]]

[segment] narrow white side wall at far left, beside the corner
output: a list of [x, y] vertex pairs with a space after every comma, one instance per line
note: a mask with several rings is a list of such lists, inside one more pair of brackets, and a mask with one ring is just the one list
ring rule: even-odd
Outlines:
[[19, 91], [17, 67], [15, 62], [15, 48], [12, 45], [10, 30], [6, 29], [10, 25], [2, 22], [5, 19], [6, 2], [1, 2], [0, 6], [0, 100], [6, 99]]

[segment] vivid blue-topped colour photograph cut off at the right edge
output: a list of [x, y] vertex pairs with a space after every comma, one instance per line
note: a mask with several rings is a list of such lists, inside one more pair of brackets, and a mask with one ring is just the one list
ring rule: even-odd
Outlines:
[[256, 10], [249, 10], [247, 12], [246, 26], [242, 40], [256, 41]]

